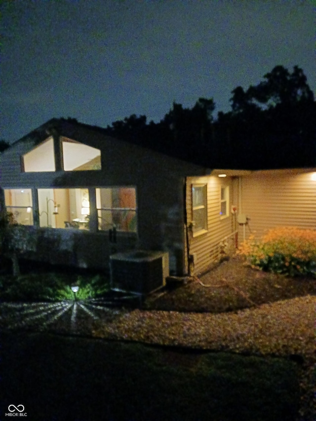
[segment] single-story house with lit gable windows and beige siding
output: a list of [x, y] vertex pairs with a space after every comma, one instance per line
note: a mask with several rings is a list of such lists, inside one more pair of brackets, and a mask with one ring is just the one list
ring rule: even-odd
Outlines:
[[51, 264], [108, 269], [114, 253], [162, 251], [171, 274], [199, 274], [250, 230], [316, 229], [316, 167], [205, 168], [72, 119], [0, 154], [0, 192], [32, 233], [26, 256]]

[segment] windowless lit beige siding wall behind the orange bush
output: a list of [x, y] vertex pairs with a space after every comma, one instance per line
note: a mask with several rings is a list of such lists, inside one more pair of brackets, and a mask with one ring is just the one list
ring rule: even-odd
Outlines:
[[[242, 213], [249, 229], [260, 237], [270, 228], [295, 226], [316, 229], [316, 181], [312, 172], [258, 172], [242, 178]], [[239, 229], [242, 239], [242, 228]]]

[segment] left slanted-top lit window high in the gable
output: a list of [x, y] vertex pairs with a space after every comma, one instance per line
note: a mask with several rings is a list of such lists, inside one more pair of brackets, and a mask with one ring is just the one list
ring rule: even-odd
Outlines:
[[23, 171], [55, 171], [54, 141], [49, 137], [32, 151], [23, 155]]

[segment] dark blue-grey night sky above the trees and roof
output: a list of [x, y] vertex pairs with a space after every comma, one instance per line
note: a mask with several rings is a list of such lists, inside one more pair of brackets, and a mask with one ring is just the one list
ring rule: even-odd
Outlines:
[[0, 138], [52, 117], [105, 127], [158, 122], [173, 101], [257, 84], [276, 65], [304, 70], [315, 92], [313, 1], [2, 0]]

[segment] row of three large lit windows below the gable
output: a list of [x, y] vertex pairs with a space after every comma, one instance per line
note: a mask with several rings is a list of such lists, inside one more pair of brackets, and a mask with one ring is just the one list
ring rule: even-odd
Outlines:
[[[38, 189], [37, 196], [40, 228], [89, 230], [88, 189]], [[34, 225], [31, 189], [6, 189], [4, 199], [17, 224]], [[98, 230], [115, 227], [118, 231], [137, 232], [135, 188], [96, 188], [95, 199]]]

